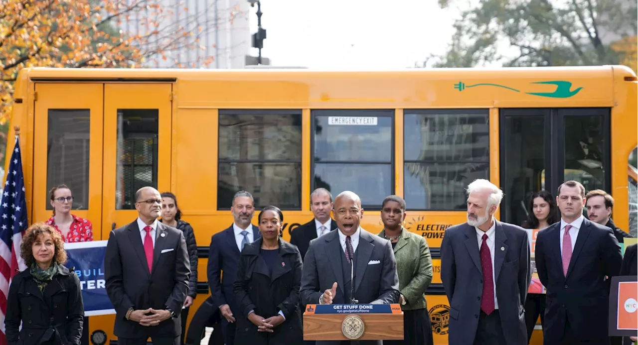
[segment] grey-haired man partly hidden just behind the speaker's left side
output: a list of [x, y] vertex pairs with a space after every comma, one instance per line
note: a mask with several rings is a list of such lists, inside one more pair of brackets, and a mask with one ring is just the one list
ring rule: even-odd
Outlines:
[[317, 188], [310, 195], [310, 209], [315, 218], [306, 224], [297, 226], [290, 233], [290, 244], [294, 244], [299, 249], [301, 260], [306, 256], [310, 241], [321, 237], [337, 228], [337, 223], [330, 218], [332, 194], [325, 188]]

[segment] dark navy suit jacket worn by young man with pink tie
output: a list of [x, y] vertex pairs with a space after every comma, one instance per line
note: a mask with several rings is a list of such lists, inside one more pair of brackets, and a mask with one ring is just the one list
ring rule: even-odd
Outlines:
[[538, 231], [536, 239], [536, 269], [547, 288], [544, 344], [560, 344], [567, 320], [579, 339], [609, 344], [607, 327], [601, 327], [609, 312], [610, 279], [605, 276], [620, 272], [618, 240], [607, 226], [583, 219], [565, 277], [560, 226], [559, 221]]

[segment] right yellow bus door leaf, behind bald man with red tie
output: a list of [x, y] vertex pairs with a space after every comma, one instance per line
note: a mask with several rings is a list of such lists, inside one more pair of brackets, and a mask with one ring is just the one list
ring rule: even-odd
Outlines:
[[137, 218], [135, 191], [170, 190], [172, 84], [104, 85], [102, 239]]

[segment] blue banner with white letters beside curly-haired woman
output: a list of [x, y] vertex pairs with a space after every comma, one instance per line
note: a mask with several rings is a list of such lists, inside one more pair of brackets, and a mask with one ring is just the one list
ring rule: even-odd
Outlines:
[[104, 279], [104, 254], [108, 241], [65, 243], [66, 267], [80, 279], [84, 316], [115, 314]]

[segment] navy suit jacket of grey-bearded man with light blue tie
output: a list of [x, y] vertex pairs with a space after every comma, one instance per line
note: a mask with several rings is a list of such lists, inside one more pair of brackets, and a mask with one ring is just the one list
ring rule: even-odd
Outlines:
[[[259, 228], [253, 227], [253, 240], [262, 236]], [[224, 231], [218, 232], [211, 237], [211, 247], [208, 252], [208, 284], [211, 288], [212, 304], [216, 307], [228, 304], [233, 314], [240, 314], [241, 311], [235, 306], [233, 294], [233, 284], [237, 277], [237, 263], [239, 262], [239, 248], [235, 240], [235, 231], [232, 224]], [[221, 274], [221, 271], [224, 273]], [[236, 318], [236, 316], [235, 316]]]

